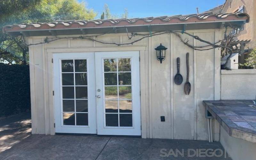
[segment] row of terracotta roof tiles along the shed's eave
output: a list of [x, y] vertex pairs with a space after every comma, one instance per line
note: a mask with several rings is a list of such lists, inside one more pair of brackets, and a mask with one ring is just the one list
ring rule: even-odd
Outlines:
[[159, 25], [159, 24], [177, 24], [177, 23], [197, 23], [197, 22], [216, 22], [216, 21], [249, 21], [249, 15], [246, 13], [218, 13], [211, 12], [189, 15], [131, 18], [131, 19], [107, 19], [107, 20], [67, 20], [55, 21], [50, 23], [28, 23], [7, 25], [3, 28], [8, 31], [26, 31], [26, 30], [48, 30], [65, 28], [101, 28], [118, 26], [136, 26], [136, 25]]

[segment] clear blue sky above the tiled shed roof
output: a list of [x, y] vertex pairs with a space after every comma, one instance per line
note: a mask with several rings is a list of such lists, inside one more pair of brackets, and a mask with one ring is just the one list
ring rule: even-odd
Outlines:
[[88, 8], [98, 12], [97, 18], [100, 17], [104, 4], [108, 4], [112, 14], [122, 15], [124, 8], [127, 8], [129, 18], [141, 18], [193, 14], [196, 13], [196, 7], [199, 8], [199, 12], [203, 12], [223, 4], [225, 0], [86, 0], [85, 2]]

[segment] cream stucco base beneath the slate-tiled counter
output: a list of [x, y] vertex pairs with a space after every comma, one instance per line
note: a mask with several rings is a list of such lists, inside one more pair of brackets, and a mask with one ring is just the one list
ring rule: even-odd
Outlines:
[[233, 160], [255, 160], [256, 143], [234, 138], [220, 127], [220, 143]]

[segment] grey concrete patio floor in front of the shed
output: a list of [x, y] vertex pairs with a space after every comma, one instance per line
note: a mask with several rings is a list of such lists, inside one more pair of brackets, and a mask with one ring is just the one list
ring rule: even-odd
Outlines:
[[[219, 142], [111, 136], [30, 135], [29, 125], [30, 121], [26, 115], [21, 115], [20, 119], [12, 117], [0, 121], [0, 159], [230, 160], [228, 154], [225, 158], [225, 153], [218, 157], [221, 154], [220, 150], [224, 152]], [[203, 149], [201, 150], [203, 154], [193, 156], [194, 151], [199, 152], [199, 149]], [[205, 149], [211, 149], [207, 152], [208, 156], [205, 155]], [[182, 150], [184, 150], [184, 156], [176, 153], [176, 151], [182, 153]], [[188, 152], [191, 157], [188, 156]], [[212, 155], [212, 152], [215, 155]]]

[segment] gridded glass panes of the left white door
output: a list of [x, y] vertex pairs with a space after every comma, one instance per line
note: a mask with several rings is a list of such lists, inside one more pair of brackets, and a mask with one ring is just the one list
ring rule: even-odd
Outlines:
[[85, 59], [61, 60], [63, 125], [88, 125], [86, 63]]

